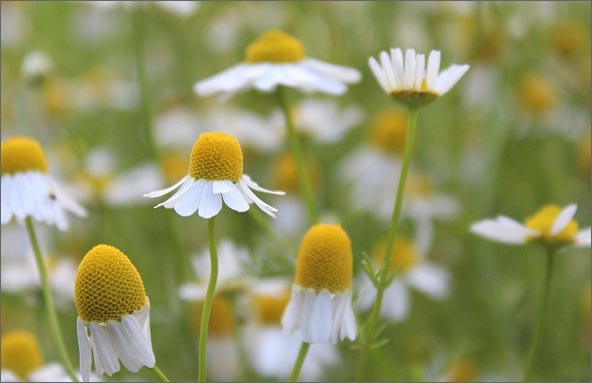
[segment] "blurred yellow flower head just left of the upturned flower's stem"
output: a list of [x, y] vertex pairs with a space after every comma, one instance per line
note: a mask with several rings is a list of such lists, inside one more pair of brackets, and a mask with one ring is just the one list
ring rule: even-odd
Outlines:
[[380, 113], [372, 125], [372, 143], [386, 153], [403, 152], [407, 138], [407, 121], [407, 114], [402, 111], [386, 110]]

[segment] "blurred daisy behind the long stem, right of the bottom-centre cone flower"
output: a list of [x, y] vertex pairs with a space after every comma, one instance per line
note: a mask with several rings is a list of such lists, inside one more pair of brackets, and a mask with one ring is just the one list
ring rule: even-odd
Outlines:
[[[385, 244], [378, 245], [374, 251], [378, 268], [384, 259]], [[411, 306], [410, 289], [416, 289], [432, 299], [442, 300], [448, 295], [450, 275], [442, 267], [423, 260], [418, 249], [408, 240], [397, 237], [391, 253], [391, 268], [397, 277], [384, 291], [380, 315], [393, 322], [405, 319]], [[376, 288], [368, 275], [363, 274], [358, 305], [362, 310], [372, 307], [376, 298]]]

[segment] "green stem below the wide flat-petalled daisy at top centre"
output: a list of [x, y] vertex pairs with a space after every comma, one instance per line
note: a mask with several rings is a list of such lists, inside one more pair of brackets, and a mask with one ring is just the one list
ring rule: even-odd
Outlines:
[[306, 208], [308, 209], [308, 214], [310, 216], [311, 223], [314, 224], [318, 221], [317, 206], [315, 203], [314, 194], [312, 192], [312, 187], [310, 186], [310, 180], [306, 174], [306, 167], [304, 164], [304, 157], [302, 156], [302, 149], [300, 148], [300, 141], [298, 139], [296, 129], [294, 128], [294, 122], [292, 121], [292, 117], [290, 115], [290, 108], [288, 107], [288, 103], [286, 101], [284, 88], [278, 86], [276, 94], [278, 103], [280, 104], [282, 113], [284, 114], [284, 119], [286, 120], [286, 128], [288, 130], [288, 141], [290, 143], [290, 150], [292, 151], [292, 156], [294, 157], [294, 161], [296, 161], [296, 169], [298, 171], [298, 183], [300, 187], [300, 192], [304, 197], [304, 202], [306, 203]]

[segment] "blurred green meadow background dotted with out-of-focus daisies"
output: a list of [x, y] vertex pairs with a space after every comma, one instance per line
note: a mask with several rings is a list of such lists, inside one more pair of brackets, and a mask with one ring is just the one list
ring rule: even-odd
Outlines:
[[[372, 255], [385, 237], [392, 206], [384, 193], [364, 189], [360, 167], [394, 182], [380, 169], [396, 166], [402, 148], [384, 144], [396, 135], [382, 132], [384, 124], [396, 124], [402, 111], [378, 86], [368, 57], [391, 47], [439, 49], [443, 67], [471, 69], [419, 116], [400, 233], [442, 270], [446, 283], [435, 294], [410, 289], [405, 314], [383, 320], [390, 342], [372, 354], [365, 380], [520, 380], [544, 252], [491, 243], [468, 227], [497, 214], [522, 221], [544, 204], [572, 202], [580, 226], [590, 225], [590, 3], [174, 3], [0, 5], [1, 138], [39, 140], [50, 173], [89, 211], [86, 219], [71, 218], [67, 232], [37, 225], [48, 264], [70, 262], [75, 272], [94, 245], [121, 249], [150, 297], [159, 367], [173, 380], [195, 379], [198, 307], [178, 289], [199, 282], [191, 257], [207, 249], [207, 225], [197, 216], [154, 210], [156, 202], [141, 196], [184, 176], [194, 140], [218, 130], [241, 142], [246, 174], [289, 195], [266, 200], [280, 209], [275, 221], [223, 209], [218, 238], [247, 257], [237, 278], [291, 283], [307, 223], [275, 97], [252, 91], [220, 100], [192, 90], [278, 28], [300, 39], [308, 56], [362, 73], [341, 97], [289, 91], [323, 220], [341, 223], [351, 237], [357, 295], [362, 254]], [[378, 163], [369, 152], [380, 153]], [[57, 361], [25, 228], [2, 226], [1, 243], [2, 333], [31, 331], [43, 360]], [[558, 256], [537, 380], [591, 379], [590, 270], [589, 249]], [[76, 363], [73, 272], [56, 277], [64, 287], [55, 291]], [[230, 324], [220, 331], [230, 334], [238, 367], [221, 379], [285, 380], [258, 371], [249, 359], [256, 348], [248, 336], [250, 310], [258, 307], [249, 294], [240, 286], [224, 292], [230, 309], [220, 315]], [[367, 312], [355, 311], [362, 323]], [[313, 379], [354, 379], [359, 352], [353, 346], [340, 343]], [[225, 358], [216, 357], [223, 367]], [[152, 377], [144, 370], [103, 379]]]

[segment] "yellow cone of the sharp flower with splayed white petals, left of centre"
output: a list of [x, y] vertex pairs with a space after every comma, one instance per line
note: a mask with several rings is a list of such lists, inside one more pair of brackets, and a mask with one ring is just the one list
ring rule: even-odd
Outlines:
[[191, 151], [189, 175], [237, 182], [243, 175], [243, 152], [236, 138], [219, 132], [200, 134]]

